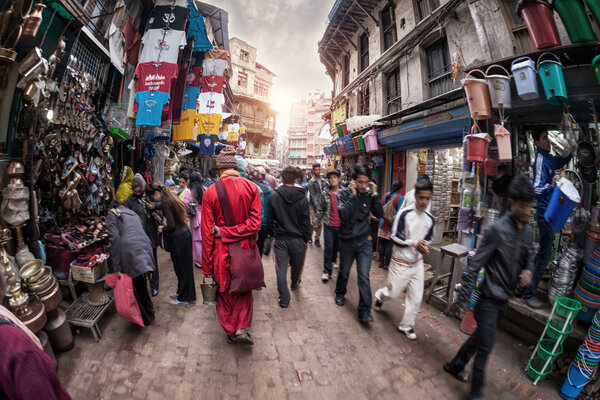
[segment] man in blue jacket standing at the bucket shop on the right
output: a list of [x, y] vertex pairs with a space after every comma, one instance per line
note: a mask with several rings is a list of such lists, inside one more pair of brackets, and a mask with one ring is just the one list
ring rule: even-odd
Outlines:
[[544, 218], [544, 213], [548, 207], [550, 197], [552, 197], [556, 182], [560, 179], [560, 176], [555, 175], [554, 171], [564, 167], [571, 157], [565, 158], [550, 154], [551, 146], [547, 131], [536, 130], [532, 132], [532, 136], [537, 148], [533, 164], [533, 190], [537, 196], [536, 219], [540, 232], [540, 249], [535, 256], [533, 282], [523, 292], [522, 300], [529, 307], [539, 309], [542, 308], [542, 302], [536, 299], [535, 294], [548, 267], [555, 237], [554, 229]]

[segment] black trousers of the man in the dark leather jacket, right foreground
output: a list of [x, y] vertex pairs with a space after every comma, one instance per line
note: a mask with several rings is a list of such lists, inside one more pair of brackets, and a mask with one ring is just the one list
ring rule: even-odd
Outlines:
[[498, 325], [504, 318], [507, 308], [508, 303], [500, 303], [480, 297], [474, 310], [477, 329], [450, 362], [451, 370], [458, 373], [464, 370], [469, 360], [475, 356], [469, 399], [481, 397], [481, 390], [485, 381], [485, 365], [496, 341]]

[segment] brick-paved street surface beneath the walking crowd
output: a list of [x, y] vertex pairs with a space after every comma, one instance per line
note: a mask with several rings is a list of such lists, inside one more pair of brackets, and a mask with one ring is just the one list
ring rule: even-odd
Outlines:
[[[466, 336], [456, 319], [424, 305], [417, 317], [419, 338], [396, 330], [402, 301], [388, 302], [375, 322], [356, 320], [358, 290], [351, 275], [346, 305], [334, 304], [334, 282], [320, 281], [322, 249], [309, 248], [303, 281], [288, 309], [277, 305], [275, 269], [264, 258], [267, 288], [254, 295], [253, 347], [229, 345], [214, 307], [167, 304], [175, 286], [168, 254], [161, 252], [161, 292], [156, 323], [138, 328], [107, 315], [96, 343], [81, 329], [75, 348], [59, 354], [59, 377], [74, 399], [463, 399], [468, 386], [441, 367]], [[337, 270], [335, 271], [337, 272]], [[373, 263], [372, 287], [385, 281]], [[485, 398], [558, 398], [562, 382], [543, 382], [535, 391], [523, 372], [528, 346], [505, 333], [488, 365]]]

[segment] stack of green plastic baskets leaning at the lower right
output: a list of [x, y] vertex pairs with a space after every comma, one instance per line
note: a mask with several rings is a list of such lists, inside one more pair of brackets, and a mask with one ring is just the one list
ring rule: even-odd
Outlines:
[[568, 297], [557, 297], [546, 328], [529, 359], [527, 376], [534, 385], [552, 372], [552, 364], [562, 354], [562, 343], [573, 332], [573, 319], [581, 303]]

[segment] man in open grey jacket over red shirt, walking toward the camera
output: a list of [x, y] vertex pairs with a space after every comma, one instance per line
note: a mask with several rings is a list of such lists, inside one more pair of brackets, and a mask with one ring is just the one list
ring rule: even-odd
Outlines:
[[[323, 282], [329, 281], [333, 271], [333, 263], [337, 260], [340, 244], [340, 226], [342, 221], [337, 210], [337, 195], [340, 191], [340, 171], [334, 169], [327, 173], [329, 187], [323, 189], [321, 202], [317, 208], [315, 220], [317, 224], [323, 223], [325, 235], [325, 251], [323, 252]], [[313, 226], [316, 230], [317, 225]]]

